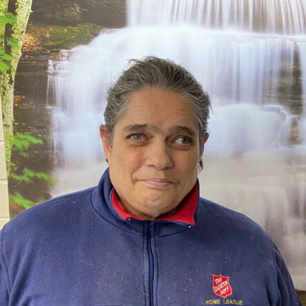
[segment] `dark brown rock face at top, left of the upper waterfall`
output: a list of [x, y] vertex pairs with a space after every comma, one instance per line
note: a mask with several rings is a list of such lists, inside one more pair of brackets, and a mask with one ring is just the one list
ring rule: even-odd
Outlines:
[[33, 0], [30, 21], [59, 26], [93, 23], [107, 28], [126, 24], [125, 0]]

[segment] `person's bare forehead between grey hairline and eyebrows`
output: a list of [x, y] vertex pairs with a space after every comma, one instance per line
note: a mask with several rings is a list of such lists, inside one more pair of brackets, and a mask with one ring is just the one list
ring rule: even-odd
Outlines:
[[159, 87], [136, 91], [129, 99], [125, 114], [116, 126], [138, 124], [169, 129], [172, 126], [186, 126], [195, 134], [199, 132], [199, 124], [188, 98]]

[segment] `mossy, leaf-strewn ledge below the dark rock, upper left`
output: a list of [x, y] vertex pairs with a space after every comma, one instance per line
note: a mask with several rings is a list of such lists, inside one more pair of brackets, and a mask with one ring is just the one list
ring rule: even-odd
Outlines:
[[28, 26], [28, 35], [35, 37], [37, 44], [51, 50], [70, 49], [88, 44], [103, 29], [96, 24], [78, 26]]

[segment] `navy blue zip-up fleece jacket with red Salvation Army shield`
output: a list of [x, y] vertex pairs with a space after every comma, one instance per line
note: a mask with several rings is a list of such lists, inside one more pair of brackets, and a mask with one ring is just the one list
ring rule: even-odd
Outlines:
[[190, 222], [124, 217], [107, 170], [26, 210], [0, 231], [0, 305], [300, 305], [269, 235], [192, 193]]

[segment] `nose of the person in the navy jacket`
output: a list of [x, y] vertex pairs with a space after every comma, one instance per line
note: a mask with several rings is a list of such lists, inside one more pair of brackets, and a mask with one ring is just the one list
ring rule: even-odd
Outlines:
[[164, 141], [154, 141], [147, 148], [147, 165], [158, 170], [172, 168], [174, 165], [171, 148]]

